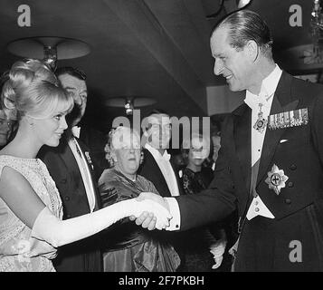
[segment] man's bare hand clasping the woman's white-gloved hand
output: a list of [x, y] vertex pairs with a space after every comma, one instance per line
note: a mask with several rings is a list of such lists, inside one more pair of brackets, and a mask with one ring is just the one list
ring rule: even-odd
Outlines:
[[[156, 201], [157, 203], [165, 207], [167, 210], [169, 210], [168, 204], [161, 196], [158, 196], [157, 194], [152, 192], [141, 192], [138, 197], [138, 200], [146, 199], [146, 198]], [[136, 220], [136, 224], [138, 226], [141, 225], [141, 227], [147, 228], [148, 230], [153, 230], [156, 228], [157, 218], [151, 212], [149, 213], [145, 211], [138, 218], [131, 216], [129, 217], [129, 219]]]

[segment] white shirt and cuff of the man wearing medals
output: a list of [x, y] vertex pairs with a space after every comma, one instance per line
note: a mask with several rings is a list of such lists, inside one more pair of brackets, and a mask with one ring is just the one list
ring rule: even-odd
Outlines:
[[[261, 151], [263, 146], [263, 140], [267, 131], [267, 126], [262, 131], [256, 131], [253, 128], [254, 123], [258, 120], [259, 103], [262, 104], [262, 118], [266, 119], [271, 112], [271, 103], [273, 100], [273, 95], [276, 91], [278, 82], [280, 81], [282, 71], [280, 67], [276, 64], [275, 69], [262, 81], [260, 94], [254, 95], [252, 92], [246, 91], [246, 98], [244, 102], [252, 109], [252, 166], [261, 158]], [[166, 230], [176, 230], [180, 228], [180, 211], [178, 203], [175, 198], [166, 198], [170, 213], [173, 218], [170, 220], [170, 226], [166, 227]], [[252, 204], [247, 212], [247, 218], [252, 219], [257, 216], [262, 216], [266, 218], [275, 218], [271, 211], [262, 202], [259, 195], [252, 199]]]

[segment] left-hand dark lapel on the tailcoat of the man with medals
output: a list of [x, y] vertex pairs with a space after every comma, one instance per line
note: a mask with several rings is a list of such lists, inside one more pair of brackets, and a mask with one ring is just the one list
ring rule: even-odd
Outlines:
[[241, 164], [245, 186], [250, 191], [252, 176], [252, 110], [243, 104], [239, 111], [234, 111], [234, 140], [235, 150]]

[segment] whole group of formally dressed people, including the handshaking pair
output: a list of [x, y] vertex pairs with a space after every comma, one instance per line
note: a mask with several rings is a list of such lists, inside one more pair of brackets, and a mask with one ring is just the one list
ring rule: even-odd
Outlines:
[[79, 69], [28, 59], [3, 74], [0, 272], [323, 271], [323, 88], [280, 69], [252, 11], [226, 16], [210, 45], [245, 100], [180, 156], [165, 111], [144, 143], [82, 121]]

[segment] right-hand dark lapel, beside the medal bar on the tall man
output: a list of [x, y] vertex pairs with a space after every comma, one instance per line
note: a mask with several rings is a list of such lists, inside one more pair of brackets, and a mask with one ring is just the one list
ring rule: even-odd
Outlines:
[[[293, 111], [299, 104], [299, 100], [290, 102], [292, 100], [292, 96], [290, 95], [290, 82], [291, 76], [287, 73], [282, 73], [279, 85], [273, 96], [271, 104], [271, 115], [283, 111]], [[280, 137], [285, 130], [286, 129], [270, 130], [269, 128], [267, 128], [262, 146], [261, 163], [258, 171], [257, 185], [261, 181], [263, 176], [267, 174], [275, 149], [279, 144]]]

